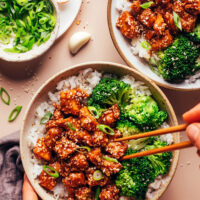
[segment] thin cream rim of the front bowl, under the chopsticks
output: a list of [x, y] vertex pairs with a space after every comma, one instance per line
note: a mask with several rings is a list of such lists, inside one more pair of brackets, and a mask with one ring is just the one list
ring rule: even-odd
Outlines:
[[[80, 64], [76, 64], [76, 65], [70, 66], [70, 67], [68, 67], [68, 68], [66, 68], [64, 70], [61, 70], [60, 72], [56, 73], [55, 75], [50, 77], [48, 80], [46, 80], [40, 86], [40, 88], [36, 91], [36, 93], [32, 97], [30, 103], [28, 104], [27, 109], [26, 109], [25, 114], [24, 114], [24, 117], [23, 117], [21, 129], [20, 129], [20, 155], [21, 155], [21, 160], [22, 160], [22, 164], [23, 164], [23, 167], [24, 167], [24, 171], [25, 171], [30, 183], [33, 185], [33, 188], [35, 188], [35, 180], [30, 178], [30, 174], [28, 173], [27, 166], [24, 164], [25, 163], [25, 161], [24, 161], [25, 152], [23, 151], [23, 143], [24, 143], [23, 142], [23, 134], [24, 134], [26, 119], [28, 118], [29, 110], [30, 110], [32, 104], [37, 99], [37, 96], [41, 93], [41, 91], [45, 87], [47, 87], [50, 82], [54, 82], [54, 79], [56, 79], [59, 76], [61, 76], [61, 77], [65, 76], [65, 73], [67, 73], [68, 71], [74, 70], [76, 68], [81, 68], [81, 67], [85, 67], [84, 69], [87, 69], [87, 68], [90, 68], [91, 65], [94, 66], [93, 69], [95, 69], [95, 66], [105, 65], [105, 66], [117, 67], [117, 68], [120, 68], [120, 69], [125, 70], [125, 71], [131, 71], [134, 74], [136, 74], [137, 76], [139, 76], [140, 78], [142, 78], [143, 80], [145, 80], [146, 82], [148, 82], [149, 85], [151, 85], [157, 91], [157, 93], [159, 93], [159, 95], [162, 97], [162, 100], [164, 101], [164, 104], [166, 105], [166, 108], [169, 109], [169, 113], [171, 114], [171, 119], [172, 119], [172, 122], [174, 123], [174, 125], [178, 125], [178, 121], [177, 121], [177, 117], [175, 115], [174, 109], [173, 109], [171, 103], [169, 102], [167, 96], [163, 93], [163, 91], [151, 79], [149, 79], [148, 77], [144, 76], [142, 73], [138, 72], [137, 70], [135, 70], [133, 68], [130, 68], [130, 67], [127, 67], [127, 66], [122, 65], [122, 64], [118, 64], [118, 63], [114, 63], [114, 62], [105, 62], [105, 61], [84, 62], [84, 63], [80, 63]], [[72, 72], [72, 74], [70, 76], [73, 76], [73, 73], [74, 72]], [[174, 138], [174, 140], [176, 139], [179, 142], [180, 141], [179, 133], [176, 133], [173, 138]], [[153, 198], [153, 200], [158, 200], [164, 194], [164, 192], [167, 190], [168, 185], [172, 181], [173, 176], [174, 176], [174, 174], [176, 172], [177, 165], [178, 165], [178, 160], [179, 160], [179, 154], [180, 154], [180, 151], [174, 151], [173, 152], [173, 162], [171, 163], [171, 167], [170, 167], [170, 170], [169, 170], [169, 173], [168, 173], [168, 176], [169, 176], [170, 180], [162, 186], [162, 188], [158, 191], [158, 193]], [[44, 198], [44, 196], [41, 195], [41, 190], [39, 190], [39, 189], [35, 189], [35, 190], [36, 190], [37, 194], [41, 198]], [[44, 198], [44, 199], [46, 199], [46, 198]], [[152, 199], [146, 199], [146, 200], [152, 200]]]

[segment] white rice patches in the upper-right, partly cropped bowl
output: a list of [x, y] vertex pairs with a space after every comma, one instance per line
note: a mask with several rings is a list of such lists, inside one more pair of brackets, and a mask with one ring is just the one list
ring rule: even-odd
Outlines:
[[[128, 0], [116, 0], [116, 10], [121, 14], [124, 11], [131, 11], [131, 3]], [[148, 53], [149, 51], [142, 47], [142, 42], [146, 41], [143, 36], [139, 38], [134, 38], [131, 41], [131, 47], [130, 50], [134, 56], [138, 56], [139, 58], [145, 59], [147, 62], [149, 62], [150, 57], [153, 57], [156, 61], [159, 61], [158, 56], [156, 53], [153, 53], [152, 56]], [[200, 62], [200, 57], [197, 59], [197, 61]], [[185, 78], [184, 82], [186, 84], [192, 84], [197, 82], [197, 80], [200, 81], [200, 70], [198, 70], [194, 75], [190, 75]]]

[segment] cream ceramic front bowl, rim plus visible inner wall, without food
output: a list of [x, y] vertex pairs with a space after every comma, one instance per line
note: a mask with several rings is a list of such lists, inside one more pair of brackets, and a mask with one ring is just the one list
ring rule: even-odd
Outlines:
[[[141, 75], [139, 72], [133, 69], [130, 69], [126, 66], [115, 64], [115, 63], [99, 62], [99, 63], [80, 64], [58, 73], [57, 75], [49, 79], [46, 83], [44, 83], [44, 85], [38, 90], [38, 92], [33, 97], [32, 101], [30, 102], [27, 108], [27, 112], [24, 117], [23, 126], [22, 126], [21, 134], [20, 134], [20, 151], [21, 151], [21, 158], [22, 158], [25, 172], [31, 184], [33, 185], [34, 189], [36, 190], [36, 192], [40, 195], [42, 199], [45, 199], [45, 200], [53, 200], [54, 198], [51, 194], [46, 192], [46, 190], [44, 190], [38, 184], [36, 180], [34, 180], [32, 170], [31, 170], [32, 163], [30, 162], [32, 155], [31, 155], [30, 148], [28, 147], [27, 136], [29, 134], [30, 128], [34, 121], [35, 110], [40, 105], [40, 103], [47, 100], [48, 98], [47, 93], [49, 91], [52, 91], [53, 88], [56, 87], [56, 84], [59, 81], [66, 79], [69, 76], [75, 75], [80, 70], [87, 69], [87, 68], [93, 68], [99, 71], [109, 72], [109, 73], [120, 75], [120, 76], [129, 74], [135, 77], [136, 80], [143, 81], [151, 90], [153, 97], [158, 102], [159, 106], [168, 113], [169, 125], [170, 126], [177, 125], [177, 119], [176, 119], [175, 113], [173, 111], [173, 108], [171, 107], [171, 104], [166, 98], [166, 96], [151, 80], [145, 78], [143, 75]], [[179, 142], [179, 134], [174, 134], [174, 142]], [[178, 162], [178, 157], [179, 157], [179, 152], [178, 151], [173, 152], [173, 160], [172, 160], [172, 165], [169, 172], [169, 178], [167, 179], [165, 185], [158, 191], [157, 195], [151, 200], [158, 199], [162, 195], [162, 193], [166, 190], [169, 182], [171, 181], [174, 175], [177, 162]]]

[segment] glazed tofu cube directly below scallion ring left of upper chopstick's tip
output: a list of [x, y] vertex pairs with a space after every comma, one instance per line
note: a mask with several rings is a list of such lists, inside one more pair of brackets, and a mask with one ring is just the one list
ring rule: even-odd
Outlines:
[[96, 130], [92, 134], [92, 146], [100, 147], [100, 146], [106, 146], [107, 144], [108, 144], [108, 137], [104, 132]]

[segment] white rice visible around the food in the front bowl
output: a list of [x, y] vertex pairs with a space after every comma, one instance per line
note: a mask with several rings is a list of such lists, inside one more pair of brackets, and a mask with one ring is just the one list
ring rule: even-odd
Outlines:
[[[56, 91], [48, 93], [49, 96], [48, 101], [41, 103], [36, 109], [35, 121], [28, 135], [28, 146], [30, 147], [30, 149], [33, 149], [33, 147], [36, 145], [38, 138], [44, 136], [45, 125], [41, 125], [40, 120], [45, 115], [46, 112], [52, 113], [54, 111], [54, 107], [52, 104], [54, 102], [59, 102], [59, 94], [61, 91], [67, 89], [81, 88], [86, 90], [88, 94], [91, 94], [93, 88], [99, 83], [102, 77], [111, 77], [111, 76], [112, 75], [110, 74], [102, 74], [101, 72], [89, 68], [80, 71], [76, 76], [71, 76], [65, 80], [60, 81], [57, 84]], [[130, 84], [134, 88], [136, 94], [148, 95], [148, 96], [151, 95], [151, 91], [148, 89], [148, 87], [143, 82], [136, 81], [134, 77], [126, 75], [123, 76], [121, 80]], [[168, 124], [164, 123], [162, 127], [167, 127], [167, 126]], [[170, 134], [166, 136], [161, 136], [161, 139], [163, 141], [166, 141], [168, 144], [171, 144], [173, 142], [173, 138]], [[33, 164], [32, 175], [36, 179], [42, 171], [43, 163], [42, 161], [37, 160], [34, 155], [31, 159], [31, 162]], [[156, 179], [156, 183], [158, 181], [160, 181], [160, 186], [162, 186], [162, 179], [159, 178]], [[149, 191], [152, 190], [156, 190], [154, 184], [151, 184], [151, 187], [149, 188]], [[62, 183], [58, 183], [56, 185], [56, 187], [53, 189], [53, 194], [55, 196], [55, 199], [65, 198], [68, 195]], [[131, 198], [121, 197], [120, 199], [129, 200]]]

